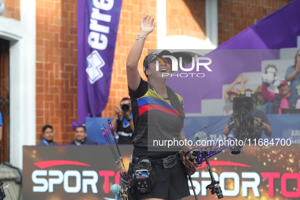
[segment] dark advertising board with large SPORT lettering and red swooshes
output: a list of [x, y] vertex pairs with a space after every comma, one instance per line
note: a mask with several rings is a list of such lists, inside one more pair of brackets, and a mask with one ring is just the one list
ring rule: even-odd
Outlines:
[[[132, 146], [120, 146], [125, 167]], [[222, 152], [210, 159], [224, 199], [299, 199], [299, 152]], [[217, 199], [206, 164], [192, 176], [198, 199]], [[113, 200], [119, 170], [108, 146], [24, 146], [23, 199]], [[190, 185], [190, 183], [189, 183]], [[192, 188], [187, 200], [195, 199]]]

